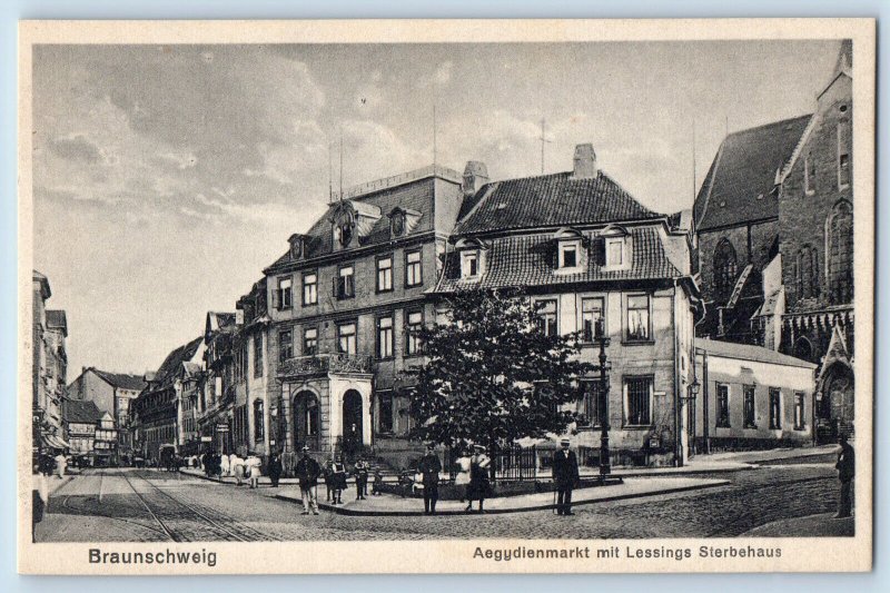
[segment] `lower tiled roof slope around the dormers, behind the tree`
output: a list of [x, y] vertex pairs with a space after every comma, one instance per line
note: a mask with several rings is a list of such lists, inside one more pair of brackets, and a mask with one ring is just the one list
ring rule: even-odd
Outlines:
[[446, 257], [445, 273], [437, 291], [463, 288], [502, 288], [507, 286], [546, 286], [557, 284], [680, 278], [682, 273], [671, 264], [655, 226], [631, 227], [632, 263], [626, 269], [604, 270], [593, 257], [576, 274], [554, 274], [553, 233], [508, 235], [491, 241], [487, 263], [477, 280], [461, 279], [457, 253]]

